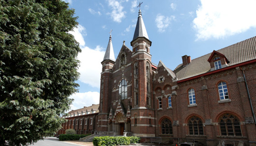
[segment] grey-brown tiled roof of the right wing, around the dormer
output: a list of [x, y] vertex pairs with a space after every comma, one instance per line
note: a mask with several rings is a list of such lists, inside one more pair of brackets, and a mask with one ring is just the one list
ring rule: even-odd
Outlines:
[[[254, 60], [256, 59], [256, 36], [219, 49], [217, 52], [225, 55], [229, 60], [228, 66]], [[195, 58], [191, 60], [189, 65], [184, 67], [183, 64], [178, 65], [174, 69], [178, 81], [210, 72], [210, 63], [207, 61], [210, 55], [211, 53]]]

